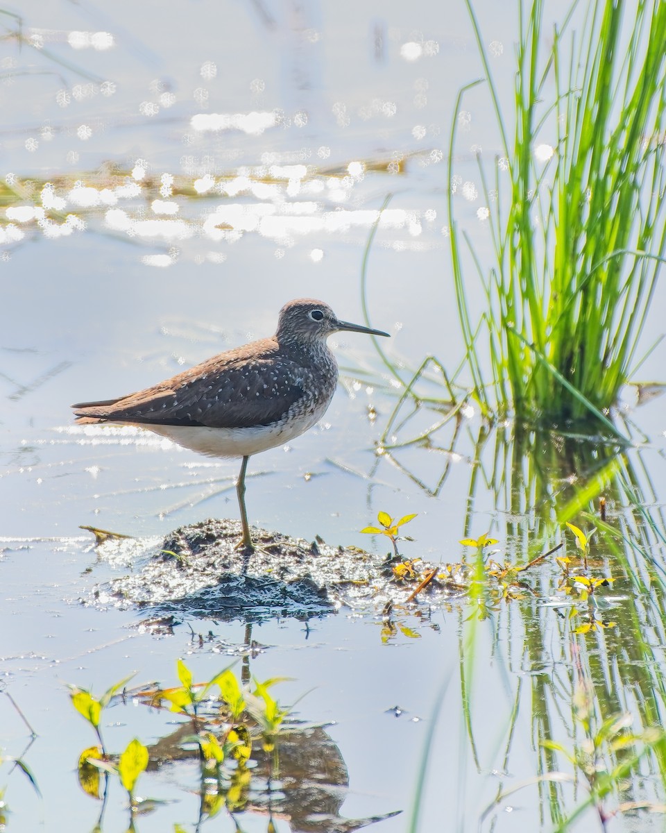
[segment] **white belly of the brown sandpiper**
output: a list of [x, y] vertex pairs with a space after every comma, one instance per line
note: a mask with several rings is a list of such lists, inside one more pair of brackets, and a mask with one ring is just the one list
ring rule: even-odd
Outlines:
[[[328, 404], [328, 403], [326, 403]], [[284, 445], [321, 419], [326, 408], [317, 409], [308, 418], [284, 421], [271, 426], [251, 428], [208, 428], [205, 426], [140, 425], [177, 445], [212, 457], [242, 457]]]

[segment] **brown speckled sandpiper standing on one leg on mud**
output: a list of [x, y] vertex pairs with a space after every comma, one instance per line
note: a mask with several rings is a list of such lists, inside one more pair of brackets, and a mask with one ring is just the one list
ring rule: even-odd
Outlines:
[[254, 551], [245, 476], [250, 457], [300, 436], [331, 404], [338, 366], [334, 332], [388, 332], [340, 321], [328, 304], [297, 298], [281, 308], [274, 336], [219, 353], [143, 391], [72, 405], [77, 425], [132, 425], [213, 457], [241, 457], [236, 496], [242, 537]]

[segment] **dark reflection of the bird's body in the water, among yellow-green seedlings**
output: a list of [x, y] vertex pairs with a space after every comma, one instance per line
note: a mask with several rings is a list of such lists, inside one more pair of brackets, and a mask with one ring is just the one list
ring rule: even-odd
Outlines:
[[[326, 726], [286, 716], [287, 711], [268, 694], [268, 688], [279, 681], [261, 684], [254, 679], [253, 645], [248, 625], [245, 643], [237, 646], [242, 656], [242, 687], [229, 669], [216, 675], [215, 681], [192, 681], [191, 672], [179, 661], [180, 687], [125, 687], [110, 700], [102, 697], [102, 709], [139, 708], [153, 717], [162, 716], [162, 733], [147, 744], [144, 768], [152, 776], [152, 788], [176, 782], [182, 791], [198, 796], [198, 816], [191, 819], [196, 831], [214, 816], [226, 816], [236, 830], [247, 829], [248, 823], [257, 829], [256, 821], [267, 816], [269, 829], [278, 824], [291, 833], [334, 833], [355, 831], [397, 815], [400, 811], [360, 819], [341, 815], [349, 776], [340, 749]], [[72, 703], [77, 697], [89, 699], [87, 692], [74, 687]], [[181, 718], [175, 730], [173, 721], [167, 720], [169, 706]], [[87, 709], [82, 714], [88, 716]], [[118, 786], [119, 759], [104, 751], [101, 735], [99, 742], [100, 746], [82, 752], [78, 781], [88, 796], [100, 802], [96, 829], [102, 831], [107, 801]], [[140, 829], [140, 816], [159, 812], [164, 803], [170, 802], [132, 798], [130, 829]]]

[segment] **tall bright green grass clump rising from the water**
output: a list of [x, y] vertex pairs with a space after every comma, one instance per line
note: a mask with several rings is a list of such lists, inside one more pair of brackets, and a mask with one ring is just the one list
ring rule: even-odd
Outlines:
[[[504, 152], [492, 178], [479, 158], [490, 269], [456, 226], [453, 188], [449, 197], [455, 292], [475, 397], [488, 415], [559, 421], [594, 414], [608, 427], [604, 412], [636, 370], [664, 262], [666, 3], [574, 2], [551, 30], [542, 0], [520, 2], [509, 119], [465, 2]], [[450, 182], [460, 104], [476, 83], [456, 102]], [[539, 145], [546, 152], [537, 158]], [[470, 264], [485, 291], [478, 320], [467, 297]], [[490, 382], [481, 361], [486, 339]]]

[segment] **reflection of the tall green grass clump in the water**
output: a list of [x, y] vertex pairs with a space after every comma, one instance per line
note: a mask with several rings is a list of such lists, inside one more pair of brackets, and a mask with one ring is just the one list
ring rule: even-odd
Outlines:
[[[468, 599], [458, 608], [465, 733], [477, 771], [482, 774], [491, 761], [504, 773], [482, 814], [483, 829], [494, 829], [507, 805], [528, 800], [514, 799], [520, 769], [526, 779], [536, 774], [522, 789], [538, 792], [556, 826], [586, 807], [593, 817], [660, 811], [666, 522], [650, 481], [649, 441], [647, 450], [628, 450], [616, 437], [581, 426], [558, 431], [480, 424], [474, 430], [473, 420], [453, 410], [455, 418], [435, 431], [420, 431], [426, 417], [403, 407], [407, 416], [400, 421], [394, 415], [392, 445], [381, 447], [374, 473], [388, 462], [433, 495], [453, 456], [467, 459], [460, 536], [480, 531], [480, 508], [491, 506], [490, 529], [500, 539], [498, 551], [470, 559], [467, 579], [460, 572], [461, 581], [474, 572], [481, 582], [469, 583]], [[634, 431], [628, 421], [625, 428]], [[416, 442], [408, 439], [410, 432]], [[426, 486], [419, 466], [425, 456], [415, 446], [444, 457], [435, 486]], [[400, 461], [407, 449], [409, 466]], [[587, 531], [584, 552], [564, 521]], [[564, 551], [542, 561], [539, 554], [558, 542]], [[530, 569], [532, 564], [539, 566]], [[507, 591], [498, 593], [484, 574], [499, 577]], [[494, 668], [490, 675], [488, 666]], [[494, 681], [504, 690], [494, 706], [495, 731], [503, 738], [499, 756], [485, 736]], [[513, 746], [528, 726], [533, 760], [525, 769]], [[583, 789], [577, 795], [572, 785]]]

